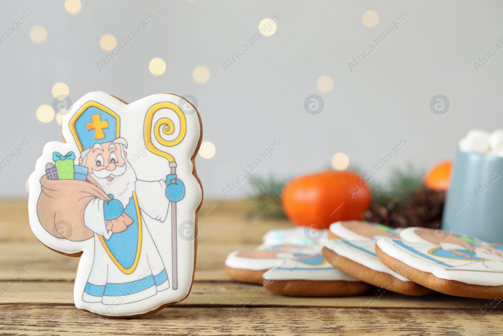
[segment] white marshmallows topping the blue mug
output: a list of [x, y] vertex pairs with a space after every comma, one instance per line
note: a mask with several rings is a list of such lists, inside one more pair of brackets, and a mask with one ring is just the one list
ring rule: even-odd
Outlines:
[[463, 152], [492, 154], [503, 157], [503, 129], [496, 129], [492, 133], [472, 129], [459, 141], [459, 149]]

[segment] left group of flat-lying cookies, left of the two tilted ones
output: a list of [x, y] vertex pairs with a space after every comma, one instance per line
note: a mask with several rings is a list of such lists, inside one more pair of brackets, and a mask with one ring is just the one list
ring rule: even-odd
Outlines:
[[282, 295], [330, 297], [367, 292], [369, 284], [326, 262], [320, 253], [326, 241], [325, 230], [271, 230], [259, 247], [230, 253], [226, 272], [239, 282], [264, 284]]

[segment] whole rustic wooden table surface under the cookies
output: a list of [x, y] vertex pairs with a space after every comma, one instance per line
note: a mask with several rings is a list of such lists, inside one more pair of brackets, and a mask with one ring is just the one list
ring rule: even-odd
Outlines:
[[[46, 249], [35, 238], [28, 224], [27, 201], [0, 201], [0, 287], [14, 281], [25, 265], [29, 267], [20, 282], [0, 294], [0, 333], [503, 334], [503, 303], [491, 310], [490, 300], [442, 294], [409, 297], [391, 292], [379, 297], [373, 291], [358, 297], [294, 298], [233, 282], [223, 265], [229, 252], [257, 246], [262, 235], [272, 228], [291, 227], [286, 221], [247, 219], [246, 208], [245, 201], [208, 200], [203, 204], [196, 276], [185, 301], [148, 317], [107, 319], [74, 307], [72, 291], [78, 258]], [[243, 307], [240, 302], [245, 297], [250, 302]]]

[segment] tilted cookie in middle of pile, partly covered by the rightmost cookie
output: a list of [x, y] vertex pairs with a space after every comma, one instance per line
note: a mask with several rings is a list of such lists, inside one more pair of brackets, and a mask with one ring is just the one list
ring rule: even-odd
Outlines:
[[333, 239], [325, 243], [323, 256], [339, 270], [383, 290], [407, 294], [426, 295], [432, 290], [411, 282], [400, 272], [394, 272], [379, 260], [376, 239], [398, 238], [400, 229], [368, 222], [338, 222], [330, 226]]

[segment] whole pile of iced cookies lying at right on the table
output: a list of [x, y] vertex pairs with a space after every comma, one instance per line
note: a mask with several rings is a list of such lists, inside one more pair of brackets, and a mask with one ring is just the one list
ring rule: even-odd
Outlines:
[[329, 230], [272, 230], [225, 262], [240, 282], [292, 296], [351, 296], [371, 285], [406, 295], [503, 298], [503, 244], [425, 228], [337, 222]]

